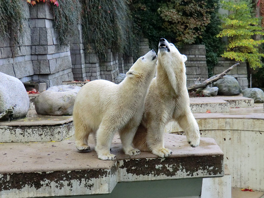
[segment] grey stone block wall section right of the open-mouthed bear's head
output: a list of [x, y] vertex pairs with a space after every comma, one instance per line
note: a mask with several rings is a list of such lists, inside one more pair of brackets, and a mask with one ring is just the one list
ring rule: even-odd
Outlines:
[[187, 56], [185, 62], [187, 86], [194, 84], [199, 77], [201, 81], [208, 79], [205, 45], [184, 45], [178, 50]]

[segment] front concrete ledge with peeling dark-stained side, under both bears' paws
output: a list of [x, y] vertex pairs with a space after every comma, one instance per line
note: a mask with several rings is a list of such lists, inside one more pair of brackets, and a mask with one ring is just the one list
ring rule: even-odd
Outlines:
[[107, 194], [117, 182], [224, 175], [224, 155], [212, 138], [201, 138], [192, 148], [185, 136], [165, 134], [165, 146], [173, 152], [168, 158], [149, 152], [125, 155], [118, 136], [111, 146], [117, 160], [99, 160], [90, 146], [78, 152], [73, 139], [0, 144], [1, 197]]

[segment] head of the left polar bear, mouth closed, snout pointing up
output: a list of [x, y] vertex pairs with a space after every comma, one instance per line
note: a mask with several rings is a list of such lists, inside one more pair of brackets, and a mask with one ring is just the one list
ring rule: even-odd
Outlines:
[[157, 55], [154, 50], [150, 50], [144, 56], [140, 57], [126, 72], [128, 78], [134, 81], [146, 82], [151, 80], [156, 72]]

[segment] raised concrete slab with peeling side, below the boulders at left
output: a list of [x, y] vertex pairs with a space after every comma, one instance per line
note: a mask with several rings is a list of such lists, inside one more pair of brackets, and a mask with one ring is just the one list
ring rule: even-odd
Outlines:
[[73, 136], [72, 116], [42, 116], [0, 121], [0, 142], [62, 141]]

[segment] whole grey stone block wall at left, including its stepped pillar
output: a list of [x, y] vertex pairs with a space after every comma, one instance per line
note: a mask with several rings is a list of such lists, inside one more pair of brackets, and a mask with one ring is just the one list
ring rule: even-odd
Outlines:
[[23, 3], [29, 23], [25, 21], [20, 51], [13, 58], [9, 40], [0, 43], [0, 72], [22, 82], [46, 82], [47, 87], [73, 80], [70, 47], [59, 45], [50, 5]]

